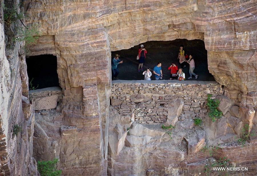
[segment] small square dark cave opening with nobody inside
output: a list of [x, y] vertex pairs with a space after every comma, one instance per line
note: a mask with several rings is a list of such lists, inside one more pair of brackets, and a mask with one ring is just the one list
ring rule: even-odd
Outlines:
[[26, 57], [29, 89], [59, 87], [56, 56], [45, 54]]

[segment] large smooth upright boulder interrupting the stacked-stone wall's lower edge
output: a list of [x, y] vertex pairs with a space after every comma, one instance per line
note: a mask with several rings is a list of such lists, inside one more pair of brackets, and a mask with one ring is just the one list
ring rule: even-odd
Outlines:
[[183, 105], [184, 105], [184, 99], [177, 98], [173, 99], [169, 102], [169, 109], [168, 109], [168, 116], [167, 121], [164, 123], [165, 126], [169, 125], [175, 125], [178, 121], [178, 117], [180, 116]]

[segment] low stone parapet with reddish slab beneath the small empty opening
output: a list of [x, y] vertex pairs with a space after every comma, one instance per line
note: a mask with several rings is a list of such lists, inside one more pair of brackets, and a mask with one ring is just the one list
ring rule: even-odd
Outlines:
[[55, 109], [62, 98], [61, 87], [47, 87], [29, 91], [30, 101], [35, 102], [35, 110]]

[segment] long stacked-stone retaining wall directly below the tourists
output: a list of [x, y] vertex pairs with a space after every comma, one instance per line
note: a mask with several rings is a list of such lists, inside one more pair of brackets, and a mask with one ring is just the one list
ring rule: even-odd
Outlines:
[[[173, 103], [184, 100], [181, 118], [205, 117], [207, 113], [207, 94], [213, 98], [224, 93], [216, 81], [125, 81], [112, 82], [111, 106], [119, 114], [134, 113], [137, 123], [165, 122]], [[182, 99], [181, 101], [177, 101]], [[172, 103], [173, 102], [173, 103]], [[177, 103], [178, 104], [178, 103]], [[179, 114], [178, 114], [179, 115]], [[110, 117], [111, 118], [111, 117]], [[182, 120], [183, 120], [182, 119]]]

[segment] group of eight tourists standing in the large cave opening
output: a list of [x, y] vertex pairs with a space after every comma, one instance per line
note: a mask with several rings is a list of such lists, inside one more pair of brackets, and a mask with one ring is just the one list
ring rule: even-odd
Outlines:
[[[179, 53], [178, 53], [178, 60], [182, 68], [178, 69], [178, 66], [176, 66], [175, 62], [173, 62], [169, 67], [168, 70], [170, 70], [170, 80], [172, 79], [178, 79], [178, 80], [185, 80], [185, 73], [183, 72], [183, 68], [186, 67], [186, 63], [189, 64], [189, 75], [188, 79], [192, 79], [192, 75], [195, 76], [195, 79], [198, 78], [198, 75], [194, 73], [194, 58], [192, 54], [189, 56], [185, 54], [184, 46], [180, 45]], [[144, 48], [144, 45], [141, 44], [140, 48], [138, 49], [138, 56], [136, 57], [136, 60], [138, 60], [138, 72], [143, 71], [143, 64], [146, 58], [147, 51]], [[115, 54], [115, 57], [112, 59], [112, 79], [118, 79], [117, 75], [119, 74], [118, 65], [122, 64], [123, 61], [119, 59], [120, 55]], [[188, 59], [188, 60], [187, 60]], [[162, 64], [161, 62], [158, 62], [158, 64], [153, 68], [153, 74], [155, 76], [155, 80], [162, 80]], [[148, 68], [143, 72], [144, 80], [151, 80], [152, 76], [151, 69]]]

